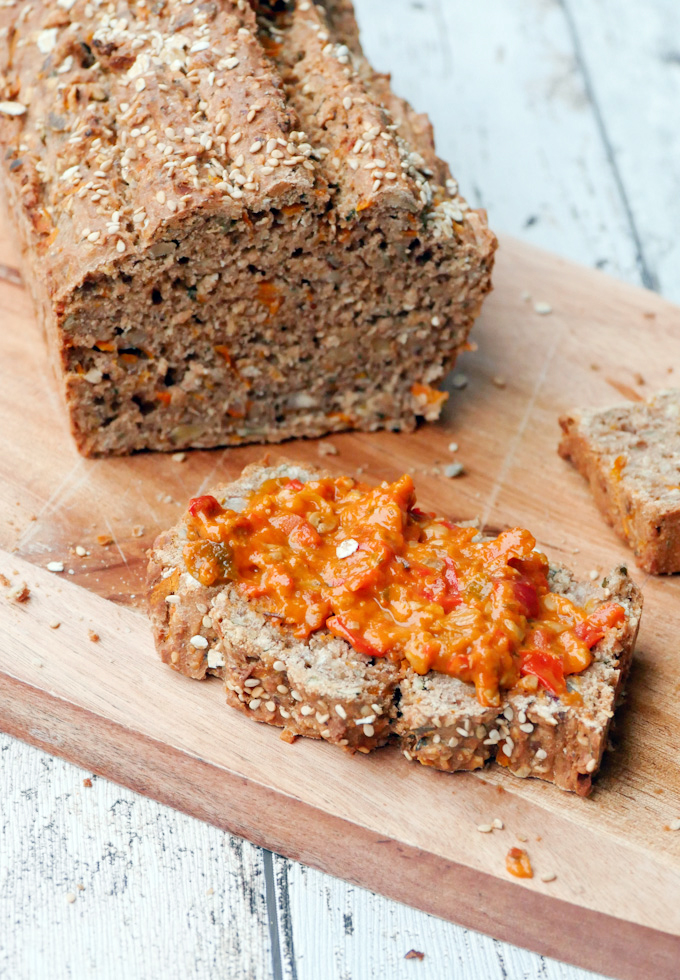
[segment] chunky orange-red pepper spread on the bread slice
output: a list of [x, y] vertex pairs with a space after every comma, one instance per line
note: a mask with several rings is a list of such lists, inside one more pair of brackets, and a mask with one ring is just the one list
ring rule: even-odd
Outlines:
[[269, 480], [240, 511], [192, 500], [184, 558], [203, 585], [233, 582], [301, 639], [327, 629], [370, 657], [473, 683], [484, 705], [510, 688], [570, 697], [565, 678], [623, 622], [550, 591], [528, 531], [475, 540], [415, 506], [409, 476]]

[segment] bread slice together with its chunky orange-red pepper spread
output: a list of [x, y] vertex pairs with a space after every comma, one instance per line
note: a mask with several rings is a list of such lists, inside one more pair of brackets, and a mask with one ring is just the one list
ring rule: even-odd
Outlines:
[[585, 795], [642, 598], [625, 568], [578, 583], [526, 530], [423, 513], [408, 476], [282, 462], [191, 501], [151, 552], [149, 609], [166, 663], [220, 674], [285, 738], [394, 739], [438, 769], [495, 759]]

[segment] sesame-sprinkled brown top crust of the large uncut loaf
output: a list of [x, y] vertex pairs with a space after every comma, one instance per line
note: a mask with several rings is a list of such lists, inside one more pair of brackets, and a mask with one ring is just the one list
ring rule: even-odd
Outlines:
[[388, 111], [351, 8], [329, 7], [299, 0], [283, 23], [260, 4], [258, 23], [246, 0], [2, 6], [0, 142], [52, 297], [187, 214], [332, 200], [338, 220], [398, 209], [475, 239], [483, 222]]

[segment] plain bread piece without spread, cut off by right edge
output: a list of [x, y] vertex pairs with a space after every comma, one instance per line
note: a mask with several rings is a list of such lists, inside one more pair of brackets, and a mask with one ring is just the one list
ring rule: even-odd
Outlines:
[[560, 455], [652, 575], [680, 572], [680, 391], [560, 419]]

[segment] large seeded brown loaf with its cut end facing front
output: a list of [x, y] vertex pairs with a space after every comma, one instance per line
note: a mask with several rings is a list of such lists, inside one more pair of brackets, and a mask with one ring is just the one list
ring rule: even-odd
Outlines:
[[437, 417], [496, 241], [347, 0], [4, 3], [0, 85], [83, 453]]

